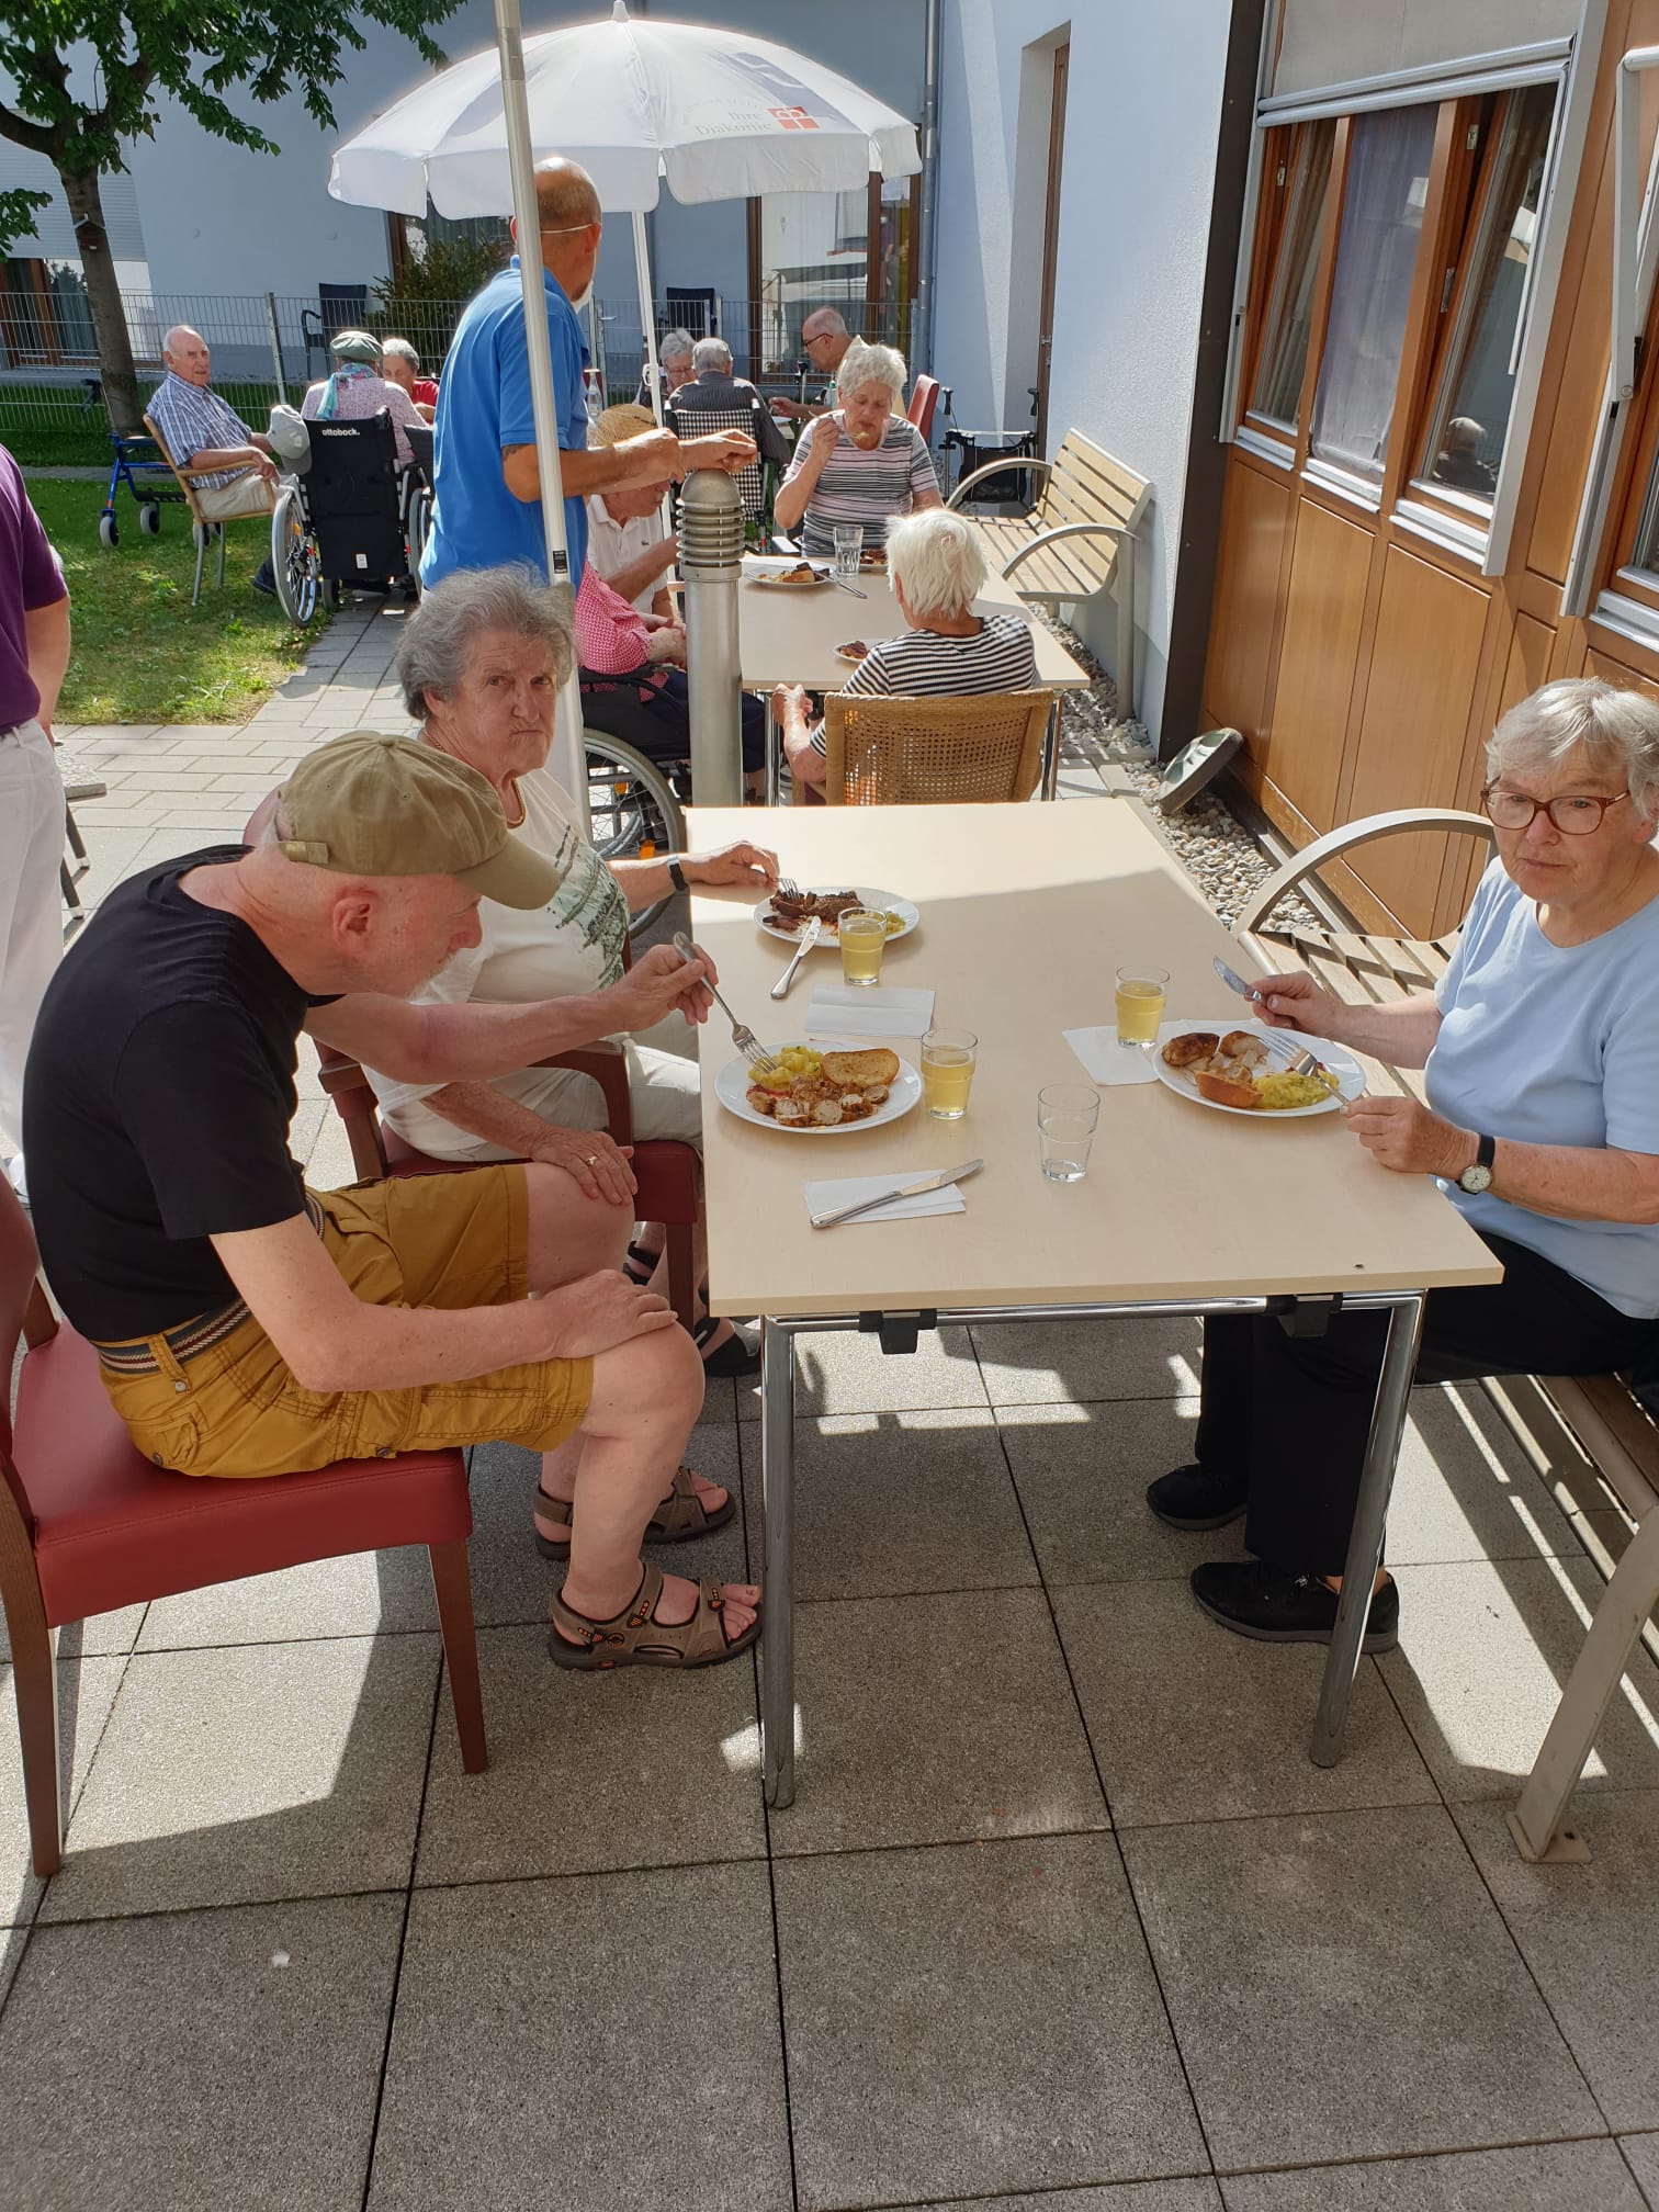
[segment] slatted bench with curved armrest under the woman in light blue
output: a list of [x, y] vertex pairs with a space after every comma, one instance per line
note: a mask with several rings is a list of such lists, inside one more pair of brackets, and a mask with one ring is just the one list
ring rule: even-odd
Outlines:
[[[1274, 907], [1290, 891], [1303, 894], [1316, 911], [1325, 907], [1318, 896], [1325, 863], [1356, 845], [1422, 830], [1493, 843], [1484, 814], [1449, 807], [1371, 814], [1332, 830], [1294, 854], [1250, 900], [1234, 927], [1239, 945], [1270, 973], [1310, 969], [1347, 1004], [1433, 991], [1451, 958], [1455, 931], [1442, 938], [1385, 938], [1345, 929], [1336, 909], [1329, 909], [1329, 925], [1272, 920]], [[1374, 1071], [1374, 1088], [1422, 1097], [1420, 1068], [1376, 1068], [1367, 1062], [1367, 1071]], [[1568, 1823], [1573, 1790], [1637, 1644], [1644, 1635], [1655, 1641], [1650, 1615], [1659, 1604], [1659, 1425], [1621, 1376], [1509, 1376], [1489, 1383], [1486, 1391], [1546, 1482], [1573, 1491], [1582, 1506], [1606, 1504], [1604, 1493], [1586, 1482], [1593, 1475], [1635, 1524], [1595, 1608], [1533, 1772], [1509, 1814], [1522, 1858], [1584, 1860], [1590, 1856], [1588, 1845]]]

